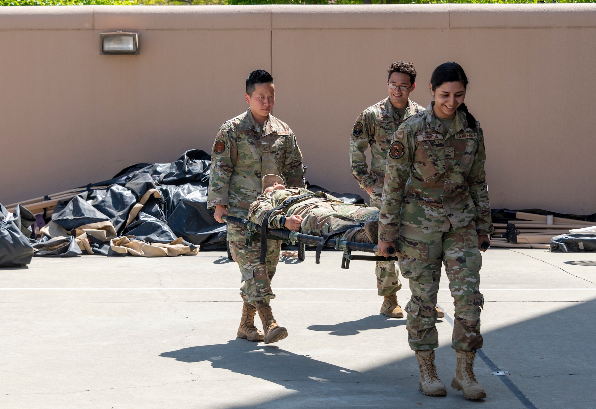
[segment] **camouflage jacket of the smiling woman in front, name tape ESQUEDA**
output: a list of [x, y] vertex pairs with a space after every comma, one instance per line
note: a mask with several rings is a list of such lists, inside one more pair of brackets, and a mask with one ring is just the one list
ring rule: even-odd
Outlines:
[[433, 103], [402, 123], [387, 156], [379, 240], [395, 241], [399, 225], [449, 231], [476, 225], [492, 233], [486, 151], [480, 123], [468, 127], [457, 111], [451, 129], [434, 116]]

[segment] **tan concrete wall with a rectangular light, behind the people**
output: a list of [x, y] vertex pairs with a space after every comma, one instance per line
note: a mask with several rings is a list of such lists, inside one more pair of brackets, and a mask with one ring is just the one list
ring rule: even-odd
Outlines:
[[[486, 135], [493, 207], [596, 212], [596, 5], [6, 7], [0, 9], [0, 202], [110, 178], [130, 163], [209, 151], [275, 78], [309, 181], [361, 193], [347, 147], [386, 96], [386, 67], [457, 61]], [[140, 55], [100, 55], [99, 33], [140, 33]]]

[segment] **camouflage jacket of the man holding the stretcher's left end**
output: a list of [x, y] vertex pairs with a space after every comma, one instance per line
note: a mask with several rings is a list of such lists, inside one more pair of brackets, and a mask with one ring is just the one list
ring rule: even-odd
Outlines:
[[[211, 154], [209, 209], [223, 204], [230, 215], [246, 218], [261, 194], [263, 175], [283, 176], [288, 186], [302, 185], [302, 153], [294, 133], [272, 115], [263, 127], [249, 109], [219, 129]], [[243, 228], [228, 226], [228, 240], [241, 241], [243, 235]]]

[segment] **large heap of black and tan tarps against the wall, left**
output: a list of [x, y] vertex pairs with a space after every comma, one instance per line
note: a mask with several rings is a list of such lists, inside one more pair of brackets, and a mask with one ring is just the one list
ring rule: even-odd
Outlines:
[[[30, 240], [35, 255], [157, 257], [196, 255], [199, 246], [225, 250], [226, 226], [207, 209], [210, 166], [209, 154], [189, 150], [175, 162], [132, 165], [108, 181], [75, 191], [72, 199], [57, 203], [51, 219], [38, 215], [41, 239]], [[344, 202], [364, 202], [356, 194], [334, 195]], [[15, 213], [19, 209], [29, 223], [23, 237], [30, 237], [35, 216], [22, 206]]]

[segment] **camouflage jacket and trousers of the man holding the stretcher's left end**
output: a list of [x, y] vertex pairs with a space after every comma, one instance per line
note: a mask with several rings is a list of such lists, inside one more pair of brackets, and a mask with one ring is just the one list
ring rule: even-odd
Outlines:
[[[207, 207], [223, 204], [231, 216], [247, 218], [250, 204], [261, 193], [263, 175], [280, 175], [287, 185], [302, 185], [302, 153], [291, 129], [269, 115], [263, 126], [250, 109], [221, 126], [213, 142]], [[252, 304], [275, 298], [271, 278], [275, 274], [280, 241], [269, 240], [266, 264], [259, 264], [260, 240], [245, 246], [246, 230], [228, 225], [232, 257], [242, 274], [241, 295]]]

